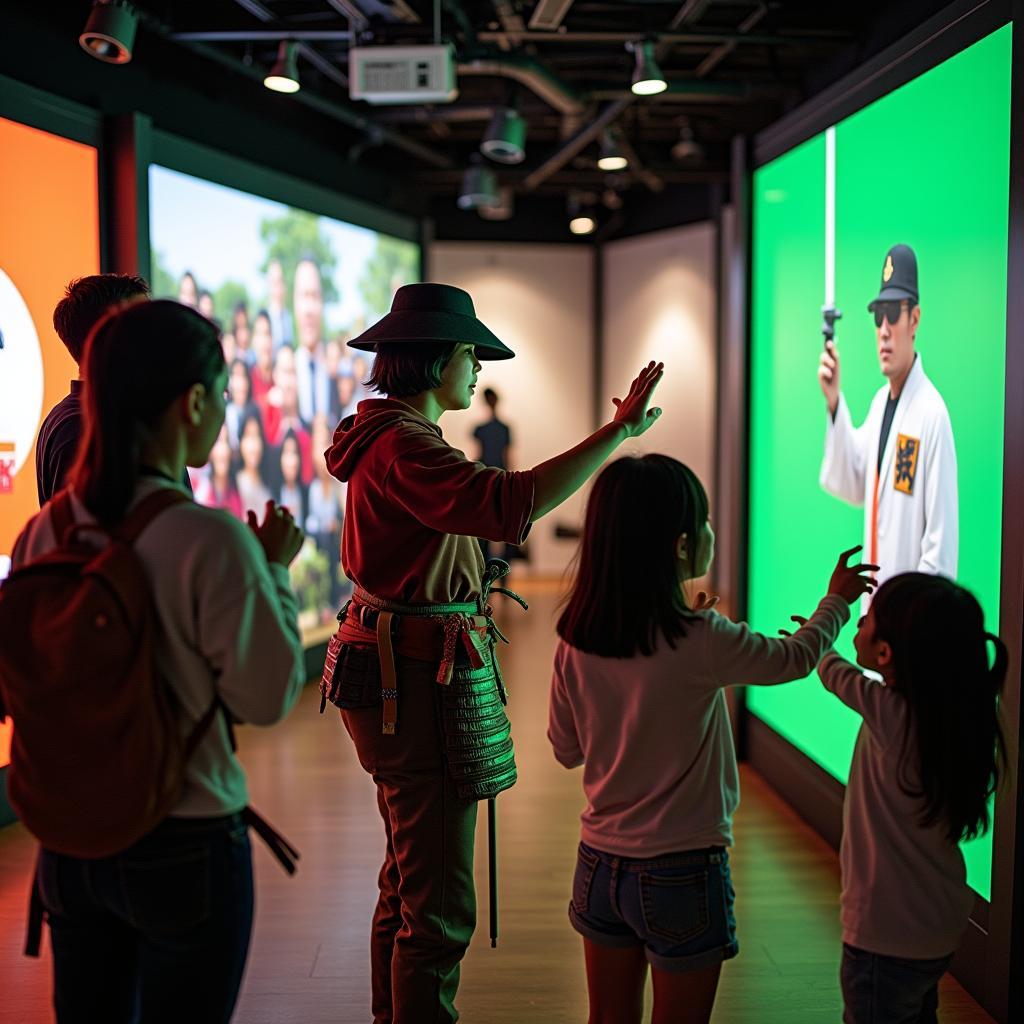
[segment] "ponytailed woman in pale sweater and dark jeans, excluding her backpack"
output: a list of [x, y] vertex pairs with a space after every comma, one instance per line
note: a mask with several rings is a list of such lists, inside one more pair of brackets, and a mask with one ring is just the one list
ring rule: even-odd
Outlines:
[[[221, 430], [227, 370], [217, 330], [186, 306], [113, 312], [90, 335], [85, 366], [86, 431], [70, 492], [29, 524], [14, 568], [60, 545], [55, 508], [74, 523], [113, 528], [161, 489], [183, 490], [185, 465], [206, 462]], [[237, 721], [270, 725], [305, 682], [287, 569], [302, 532], [291, 516], [267, 505], [263, 523], [250, 513], [247, 526], [183, 493], [166, 497], [133, 550], [181, 735], [208, 727], [196, 736], [178, 803], [142, 839], [95, 859], [41, 849], [36, 884], [58, 1022], [229, 1020], [252, 930], [253, 872], [245, 771], [226, 715], [210, 710], [219, 700]], [[95, 530], [82, 537], [99, 543]]]

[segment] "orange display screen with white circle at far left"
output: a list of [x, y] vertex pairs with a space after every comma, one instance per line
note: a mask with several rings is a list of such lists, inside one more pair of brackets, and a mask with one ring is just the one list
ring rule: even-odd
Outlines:
[[[0, 118], [0, 580], [39, 510], [36, 434], [78, 368], [53, 331], [74, 278], [99, 271], [96, 150]], [[0, 723], [0, 766], [10, 723]]]

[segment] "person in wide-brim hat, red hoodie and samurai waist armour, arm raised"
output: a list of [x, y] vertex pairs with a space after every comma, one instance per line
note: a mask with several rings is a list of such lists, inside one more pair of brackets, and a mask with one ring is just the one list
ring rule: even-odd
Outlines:
[[[663, 368], [649, 364], [610, 422], [534, 469], [483, 466], [437, 425], [468, 409], [481, 359], [514, 354], [447, 285], [407, 285], [349, 342], [370, 384], [327, 452], [347, 482], [341, 560], [354, 583], [322, 692], [341, 708], [377, 785], [386, 852], [371, 935], [375, 1024], [452, 1024], [476, 918], [477, 801], [515, 782], [505, 688], [476, 538], [521, 544], [628, 437], [646, 431]], [[499, 568], [501, 565], [499, 565]], [[507, 566], [505, 566], [507, 569]]]

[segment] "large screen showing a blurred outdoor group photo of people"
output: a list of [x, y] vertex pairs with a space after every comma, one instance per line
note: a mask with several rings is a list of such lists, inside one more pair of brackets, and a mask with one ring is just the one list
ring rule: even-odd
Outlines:
[[419, 247], [157, 165], [150, 224], [154, 296], [211, 317], [230, 369], [224, 427], [190, 471], [196, 500], [240, 518], [267, 499], [293, 512], [307, 536], [291, 575], [309, 638], [350, 589], [344, 487], [324, 451], [368, 395], [371, 367], [345, 342], [419, 280]]

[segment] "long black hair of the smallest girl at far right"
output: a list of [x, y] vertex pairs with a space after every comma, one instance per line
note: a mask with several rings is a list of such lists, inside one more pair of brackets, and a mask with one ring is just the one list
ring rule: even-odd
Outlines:
[[924, 798], [921, 824], [941, 821], [950, 842], [984, 835], [988, 798], [1006, 763], [998, 717], [1006, 645], [985, 632], [974, 595], [944, 577], [893, 577], [871, 608], [876, 638], [892, 648], [895, 687], [910, 710], [907, 738], [914, 741], [921, 787], [902, 771], [900, 787]]

